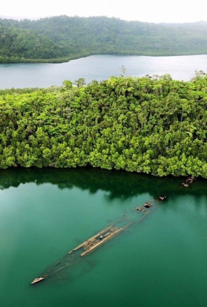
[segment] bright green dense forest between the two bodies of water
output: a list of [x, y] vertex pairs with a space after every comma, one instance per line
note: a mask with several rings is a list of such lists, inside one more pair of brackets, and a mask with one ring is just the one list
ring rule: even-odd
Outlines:
[[91, 165], [207, 178], [207, 76], [0, 90], [0, 168]]

